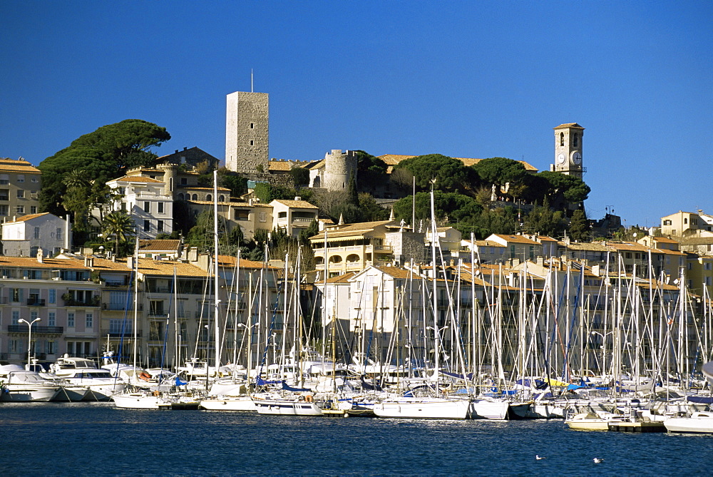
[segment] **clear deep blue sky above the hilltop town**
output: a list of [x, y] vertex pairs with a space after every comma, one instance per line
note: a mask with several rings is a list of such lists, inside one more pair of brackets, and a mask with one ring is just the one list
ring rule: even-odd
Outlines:
[[585, 205], [713, 213], [710, 1], [0, 1], [0, 156], [123, 119], [225, 156], [225, 95], [270, 93], [270, 156], [502, 156], [585, 129]]

